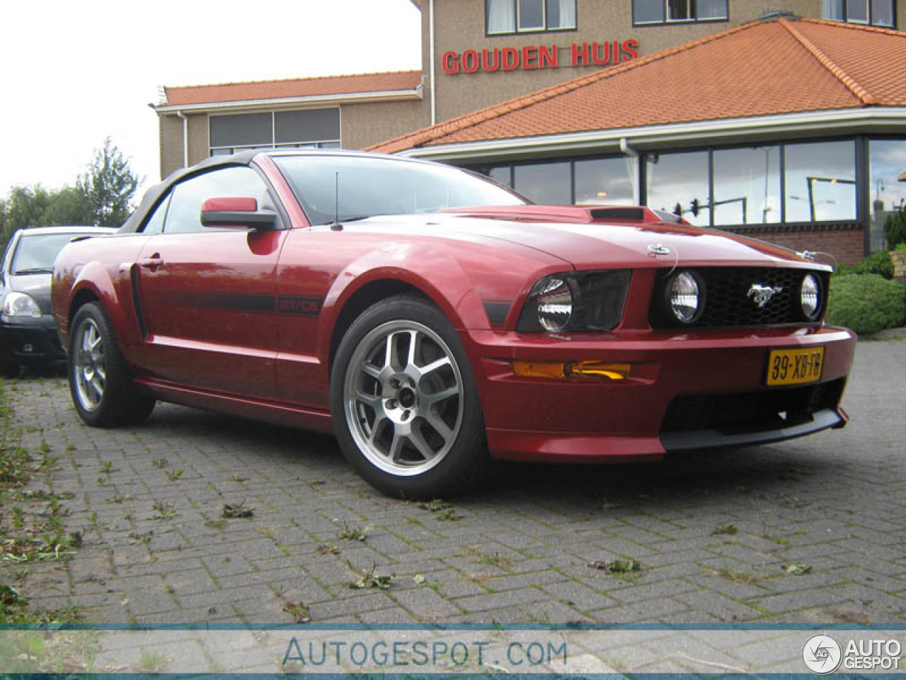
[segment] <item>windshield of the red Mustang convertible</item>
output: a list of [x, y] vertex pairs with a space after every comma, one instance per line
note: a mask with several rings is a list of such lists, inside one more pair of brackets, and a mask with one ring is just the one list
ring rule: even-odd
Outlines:
[[445, 165], [362, 156], [276, 156], [274, 161], [313, 225], [525, 203], [509, 189]]

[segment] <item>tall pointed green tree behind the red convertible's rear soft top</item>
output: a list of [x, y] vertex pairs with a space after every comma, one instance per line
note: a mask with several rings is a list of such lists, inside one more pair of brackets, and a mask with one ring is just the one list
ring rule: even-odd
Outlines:
[[99, 227], [120, 227], [129, 219], [138, 187], [139, 178], [110, 137], [95, 151], [88, 172], [75, 185], [86, 200], [89, 223]]

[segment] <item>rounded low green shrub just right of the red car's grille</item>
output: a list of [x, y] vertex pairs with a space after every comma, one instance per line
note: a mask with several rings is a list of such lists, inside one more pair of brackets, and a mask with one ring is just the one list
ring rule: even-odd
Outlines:
[[858, 335], [877, 333], [906, 320], [906, 286], [877, 274], [831, 277], [827, 323]]

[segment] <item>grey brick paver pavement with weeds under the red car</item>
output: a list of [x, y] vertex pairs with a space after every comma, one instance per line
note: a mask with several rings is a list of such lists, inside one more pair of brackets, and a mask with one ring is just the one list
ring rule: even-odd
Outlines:
[[[107, 623], [286, 623], [298, 603], [332, 623], [902, 622], [904, 364], [906, 343], [859, 346], [843, 431], [656, 465], [512, 465], [430, 505], [373, 491], [329, 437], [169, 404], [92, 430], [63, 380], [7, 383], [24, 445], [60, 456], [32, 486], [74, 494], [84, 543], [0, 581]], [[250, 519], [221, 517], [239, 503]], [[641, 571], [590, 566], [612, 559]], [[351, 587], [370, 572], [390, 588]]]

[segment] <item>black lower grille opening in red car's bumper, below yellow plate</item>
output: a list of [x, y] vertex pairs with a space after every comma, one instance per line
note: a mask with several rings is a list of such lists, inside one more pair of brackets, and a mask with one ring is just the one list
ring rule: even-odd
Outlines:
[[836, 408], [841, 396], [843, 378], [758, 392], [685, 394], [670, 402], [661, 432], [717, 430], [732, 434], [774, 430], [807, 422], [813, 413]]

